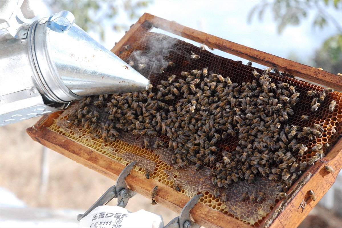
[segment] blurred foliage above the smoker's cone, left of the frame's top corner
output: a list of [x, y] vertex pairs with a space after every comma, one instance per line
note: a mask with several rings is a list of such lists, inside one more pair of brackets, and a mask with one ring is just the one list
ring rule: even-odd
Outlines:
[[53, 13], [67, 10], [74, 14], [75, 23], [84, 31], [94, 31], [105, 37], [105, 22], [115, 31], [127, 30], [129, 25], [123, 24], [118, 16], [128, 16], [130, 20], [139, 18], [138, 10], [147, 7], [152, 1], [107, 1], [107, 0], [51, 0], [48, 4]]

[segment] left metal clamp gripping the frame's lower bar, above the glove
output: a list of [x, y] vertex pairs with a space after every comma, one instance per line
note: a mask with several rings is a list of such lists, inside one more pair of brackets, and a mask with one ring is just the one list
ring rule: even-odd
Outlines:
[[110, 200], [114, 198], [118, 198], [118, 207], [126, 207], [129, 198], [132, 198], [136, 192], [129, 189], [126, 185], [125, 179], [128, 174], [131, 173], [131, 170], [136, 162], [132, 162], [128, 166], [126, 166], [120, 173], [116, 185], [111, 186], [108, 190], [91, 206], [86, 213], [77, 215], [77, 220], [80, 221], [84, 216], [88, 215], [92, 210], [97, 208], [98, 206], [106, 205]]

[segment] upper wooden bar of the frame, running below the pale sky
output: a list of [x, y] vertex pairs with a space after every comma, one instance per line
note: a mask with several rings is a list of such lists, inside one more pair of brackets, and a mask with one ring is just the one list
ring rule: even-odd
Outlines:
[[180, 25], [175, 21], [169, 21], [148, 13], [145, 13], [141, 19], [146, 19], [158, 29], [171, 32], [198, 43], [204, 43], [209, 47], [222, 50], [229, 54], [248, 59], [268, 67], [277, 68], [282, 72], [287, 72], [288, 74], [296, 77], [342, 91], [342, 76], [227, 41], [220, 37]]

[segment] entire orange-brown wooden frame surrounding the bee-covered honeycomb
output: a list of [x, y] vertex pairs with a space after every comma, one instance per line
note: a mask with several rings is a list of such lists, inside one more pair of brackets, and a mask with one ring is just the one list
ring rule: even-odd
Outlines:
[[[204, 43], [241, 58], [250, 59], [269, 67], [276, 67], [281, 71], [287, 71], [289, 74], [342, 90], [342, 77], [337, 75], [229, 42], [219, 37], [199, 32], [179, 25], [176, 22], [171, 22], [146, 13], [131, 27], [111, 51], [116, 55], [119, 55], [121, 47], [130, 44], [141, 34], [148, 32], [153, 27], [173, 32], [177, 35], [181, 35], [199, 43]], [[124, 168], [124, 165], [48, 129], [53, 123], [53, 120], [61, 113], [62, 112], [57, 112], [49, 116], [44, 116], [34, 126], [28, 128], [27, 133], [32, 139], [38, 141], [42, 145], [49, 147], [104, 176], [116, 180], [119, 173]], [[337, 174], [342, 168], [341, 145], [342, 139], [336, 143], [326, 157], [320, 159], [314, 166], [307, 169], [297, 183], [291, 187], [290, 192], [293, 192], [291, 197], [280, 201], [263, 220], [260, 227], [296, 227], [303, 221], [305, 216], [335, 182]], [[326, 164], [329, 164], [336, 171], [334, 173], [325, 172], [324, 166]], [[133, 191], [148, 198], [150, 198], [150, 189], [157, 184], [154, 180], [147, 181], [146, 179], [143, 179], [135, 172], [132, 172], [132, 174], [126, 178], [126, 182]], [[182, 207], [189, 200], [189, 197], [183, 194], [175, 194], [170, 187], [160, 188], [161, 189], [158, 187], [160, 193], [158, 194], [159, 203], [175, 212], [180, 212]], [[315, 194], [317, 196], [316, 201], [312, 201], [308, 195], [310, 189], [315, 189]], [[304, 210], [300, 208], [300, 203], [303, 199], [307, 203]], [[249, 227], [247, 224], [233, 217], [226, 216], [219, 211], [211, 210], [211, 208], [201, 203], [198, 203], [193, 208], [191, 215], [196, 223], [205, 227]]]

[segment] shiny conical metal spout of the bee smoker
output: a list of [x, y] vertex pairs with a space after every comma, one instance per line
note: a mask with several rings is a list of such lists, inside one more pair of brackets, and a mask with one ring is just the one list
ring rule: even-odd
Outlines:
[[75, 24], [63, 33], [50, 32], [50, 45], [60, 78], [78, 96], [148, 88], [148, 79]]

